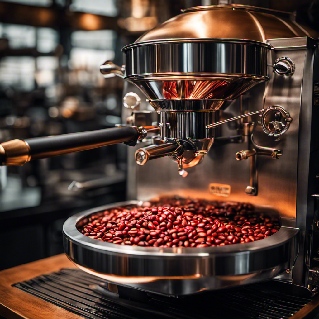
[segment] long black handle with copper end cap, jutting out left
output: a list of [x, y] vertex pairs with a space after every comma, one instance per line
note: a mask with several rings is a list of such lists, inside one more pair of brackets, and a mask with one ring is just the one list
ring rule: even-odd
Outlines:
[[144, 138], [146, 135], [147, 130], [144, 127], [129, 126], [35, 137], [24, 141], [15, 139], [0, 144], [0, 164], [21, 166], [33, 159], [54, 157], [106, 145], [118, 143], [135, 145], [138, 138]]

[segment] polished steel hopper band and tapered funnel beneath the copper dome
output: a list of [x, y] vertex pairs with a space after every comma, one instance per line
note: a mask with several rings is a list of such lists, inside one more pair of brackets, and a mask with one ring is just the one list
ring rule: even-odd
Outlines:
[[268, 79], [269, 50], [264, 43], [239, 40], [135, 43], [123, 48], [124, 79], [151, 100], [234, 100]]

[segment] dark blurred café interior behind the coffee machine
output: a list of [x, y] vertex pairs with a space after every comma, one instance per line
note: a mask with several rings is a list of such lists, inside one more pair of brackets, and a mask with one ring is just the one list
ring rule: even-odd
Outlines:
[[[318, 1], [0, 1], [0, 143], [121, 123], [134, 89], [100, 64], [122, 65], [123, 46], [183, 8], [227, 3], [291, 11], [319, 31]], [[0, 167], [0, 270], [62, 253], [69, 216], [125, 200], [126, 147]]]

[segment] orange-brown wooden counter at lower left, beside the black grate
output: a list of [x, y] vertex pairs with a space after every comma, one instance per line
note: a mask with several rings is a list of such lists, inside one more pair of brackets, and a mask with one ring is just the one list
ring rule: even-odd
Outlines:
[[0, 271], [0, 315], [7, 319], [83, 319], [11, 286], [62, 268], [76, 266], [61, 254]]

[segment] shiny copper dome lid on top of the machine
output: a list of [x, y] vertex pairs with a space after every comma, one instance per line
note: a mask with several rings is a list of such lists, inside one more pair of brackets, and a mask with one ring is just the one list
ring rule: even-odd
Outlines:
[[[287, 12], [240, 4], [200, 6], [183, 10], [182, 14], [156, 26], [136, 42], [176, 38], [249, 39], [263, 42], [264, 39], [309, 35], [289, 18]], [[318, 37], [316, 32], [311, 33], [313, 38]]]

